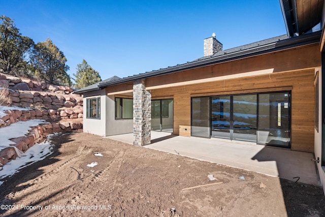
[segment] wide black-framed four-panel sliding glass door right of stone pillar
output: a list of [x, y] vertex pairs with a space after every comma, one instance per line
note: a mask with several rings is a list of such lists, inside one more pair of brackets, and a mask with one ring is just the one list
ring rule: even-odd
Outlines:
[[192, 98], [191, 135], [289, 147], [290, 92]]

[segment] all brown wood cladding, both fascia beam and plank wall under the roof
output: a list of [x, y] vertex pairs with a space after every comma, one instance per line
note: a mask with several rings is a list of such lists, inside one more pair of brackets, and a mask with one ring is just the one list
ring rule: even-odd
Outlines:
[[[319, 44], [316, 43], [147, 78], [146, 87], [151, 91], [152, 99], [166, 97], [174, 99], [174, 134], [176, 135], [180, 133], [180, 126], [191, 125], [191, 97], [193, 96], [291, 90], [291, 149], [313, 152], [313, 81], [314, 69], [321, 65], [319, 54]], [[247, 74], [263, 70], [271, 73], [252, 76]], [[217, 77], [221, 79], [216, 80]], [[209, 78], [214, 81], [200, 81]], [[191, 83], [182, 84], [188, 81]], [[116, 92], [124, 95], [123, 91], [125, 91], [125, 95], [129, 95], [132, 94], [132, 87], [132, 82], [114, 85], [108, 87], [106, 93], [110, 95]]]

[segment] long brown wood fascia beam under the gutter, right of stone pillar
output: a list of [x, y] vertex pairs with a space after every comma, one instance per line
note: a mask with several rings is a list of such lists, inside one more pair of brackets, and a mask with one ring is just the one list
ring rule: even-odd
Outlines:
[[[272, 69], [274, 73], [320, 67], [319, 44], [298, 47], [146, 80], [146, 87]], [[267, 80], [265, 81], [267, 82]], [[240, 84], [238, 84], [240, 86]]]

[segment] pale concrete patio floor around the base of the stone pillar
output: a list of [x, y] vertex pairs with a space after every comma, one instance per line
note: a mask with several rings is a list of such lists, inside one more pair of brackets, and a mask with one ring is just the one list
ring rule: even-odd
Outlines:
[[[133, 144], [133, 134], [106, 138]], [[320, 185], [313, 153], [293, 151], [222, 139], [174, 136], [151, 132], [151, 144], [143, 146], [202, 161], [279, 176], [288, 180]], [[295, 178], [294, 178], [295, 177]]]

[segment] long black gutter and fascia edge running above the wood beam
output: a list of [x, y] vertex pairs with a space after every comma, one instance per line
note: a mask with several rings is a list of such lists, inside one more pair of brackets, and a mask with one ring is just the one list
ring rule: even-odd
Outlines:
[[180, 72], [180, 71], [184, 71], [184, 70], [205, 67], [205, 66], [209, 66], [209, 65], [223, 63], [225, 61], [237, 60], [237, 59], [241, 59], [241, 58], [246, 58], [246, 57], [271, 53], [271, 52], [275, 52], [275, 51], [285, 50], [285, 49], [289, 49], [289, 48], [299, 47], [299, 46], [303, 46], [303, 45], [319, 43], [320, 36], [321, 36], [321, 31], [318, 31], [315, 33], [285, 39], [285, 40], [282, 40], [282, 41], [279, 41], [276, 43], [272, 43], [269, 45], [264, 45], [264, 46], [260, 46], [260, 47], [256, 47], [256, 48], [252, 48], [252, 49], [248, 49], [248, 50], [243, 50], [240, 52], [235, 52], [235, 53], [230, 53], [230, 54], [226, 54], [226, 55], [222, 55], [222, 56], [216, 56], [216, 57], [206, 58], [206, 59], [202, 59], [202, 60], [192, 61], [190, 63], [177, 65], [174, 67], [160, 69], [160, 70], [152, 71], [149, 73], [142, 73], [139, 75], [122, 78], [122, 79], [119, 79], [116, 81], [101, 83], [101, 84], [99, 84], [99, 88], [105, 88], [107, 86], [126, 83], [126, 82], [135, 81], [135, 80], [139, 80], [139, 79], [146, 79], [146, 78], [165, 75], [165, 74], [169, 74], [169, 73], [175, 73], [175, 72]]

